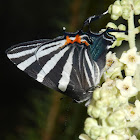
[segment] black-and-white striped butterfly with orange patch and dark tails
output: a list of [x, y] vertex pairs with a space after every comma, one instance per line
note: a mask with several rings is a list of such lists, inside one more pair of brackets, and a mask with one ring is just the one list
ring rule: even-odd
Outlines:
[[[14, 45], [8, 58], [22, 71], [43, 85], [68, 95], [78, 103], [91, 98], [104, 71], [106, 54], [116, 38], [115, 29], [93, 33], [90, 23], [101, 16], [91, 16], [75, 32], [65, 32], [54, 39], [41, 39]], [[118, 31], [117, 31], [118, 32]]]

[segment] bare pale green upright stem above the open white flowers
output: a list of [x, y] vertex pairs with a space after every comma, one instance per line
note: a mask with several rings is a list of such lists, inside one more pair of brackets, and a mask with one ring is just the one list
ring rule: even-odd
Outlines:
[[134, 10], [133, 10], [133, 5], [131, 6], [131, 12], [130, 12], [130, 17], [128, 19], [128, 42], [129, 42], [129, 47], [133, 48], [136, 46], [135, 44], [135, 25], [134, 25]]

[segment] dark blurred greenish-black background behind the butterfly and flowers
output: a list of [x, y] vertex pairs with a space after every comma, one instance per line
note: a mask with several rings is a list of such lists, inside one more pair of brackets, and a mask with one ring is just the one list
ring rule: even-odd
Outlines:
[[[114, 0], [6, 0], [0, 4], [0, 140], [78, 140], [87, 117], [84, 104], [41, 85], [6, 57], [10, 46], [76, 32], [86, 18]], [[98, 32], [109, 15], [92, 24]], [[120, 22], [122, 20], [120, 19]]]

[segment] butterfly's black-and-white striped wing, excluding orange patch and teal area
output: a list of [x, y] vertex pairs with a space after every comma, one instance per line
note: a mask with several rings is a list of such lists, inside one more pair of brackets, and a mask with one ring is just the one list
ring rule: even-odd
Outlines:
[[13, 46], [7, 56], [17, 67], [45, 86], [64, 93], [77, 102], [90, 98], [99, 68], [89, 54], [89, 47], [66, 40], [39, 40]]

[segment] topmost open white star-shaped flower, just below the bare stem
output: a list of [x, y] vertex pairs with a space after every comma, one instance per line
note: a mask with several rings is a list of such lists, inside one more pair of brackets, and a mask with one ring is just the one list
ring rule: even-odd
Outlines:
[[123, 53], [120, 62], [127, 65], [128, 69], [136, 70], [137, 64], [140, 64], [140, 56], [137, 54], [137, 48], [133, 47], [127, 52]]

